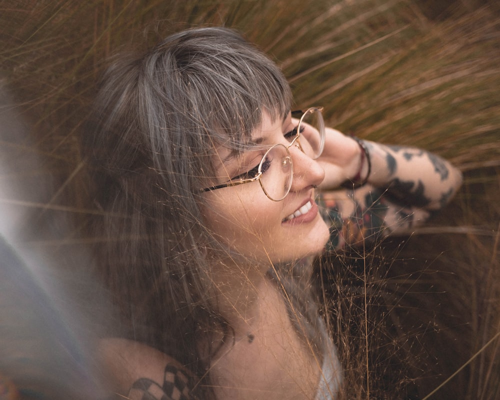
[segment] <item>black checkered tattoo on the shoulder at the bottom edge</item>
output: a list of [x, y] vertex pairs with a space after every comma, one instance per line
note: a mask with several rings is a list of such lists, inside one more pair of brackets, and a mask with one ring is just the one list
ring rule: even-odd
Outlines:
[[163, 384], [149, 378], [137, 379], [130, 389], [130, 396], [141, 400], [189, 400], [193, 385], [189, 377], [172, 364], [165, 366]]

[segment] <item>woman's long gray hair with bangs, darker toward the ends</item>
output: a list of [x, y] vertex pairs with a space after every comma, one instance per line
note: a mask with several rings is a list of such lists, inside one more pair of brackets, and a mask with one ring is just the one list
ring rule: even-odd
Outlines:
[[210, 154], [215, 144], [245, 148], [262, 112], [282, 117], [290, 103], [281, 71], [226, 28], [186, 30], [118, 58], [98, 92], [86, 139], [104, 211], [95, 225], [106, 237], [98, 272], [129, 336], [198, 376], [208, 365], [195, 338], [225, 326], [209, 301], [205, 248], [216, 243], [200, 218]]

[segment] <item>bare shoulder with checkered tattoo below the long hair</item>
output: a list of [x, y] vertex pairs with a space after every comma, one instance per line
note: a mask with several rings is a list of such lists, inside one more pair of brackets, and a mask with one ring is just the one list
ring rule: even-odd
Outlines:
[[191, 398], [192, 374], [177, 360], [153, 347], [122, 338], [101, 339], [99, 358], [117, 398]]

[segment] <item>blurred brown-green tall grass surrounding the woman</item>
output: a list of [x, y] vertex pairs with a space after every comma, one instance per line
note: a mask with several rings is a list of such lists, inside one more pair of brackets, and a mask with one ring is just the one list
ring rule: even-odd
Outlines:
[[18, 229], [34, 247], [99, 240], [85, 234], [98, 210], [78, 138], [107, 58], [190, 26], [235, 27], [282, 67], [298, 106], [464, 172], [452, 204], [402, 245], [321, 268], [348, 398], [425, 398], [458, 371], [430, 398], [498, 399], [498, 336], [471, 357], [500, 332], [499, 17], [494, 0], [0, 0], [0, 111], [23, 132], [0, 126], [0, 179], [22, 186], [0, 202], [30, 211]]

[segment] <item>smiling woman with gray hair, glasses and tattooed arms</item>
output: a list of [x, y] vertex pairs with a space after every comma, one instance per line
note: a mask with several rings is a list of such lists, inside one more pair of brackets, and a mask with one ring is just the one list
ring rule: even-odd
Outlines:
[[99, 351], [114, 392], [340, 395], [308, 261], [423, 221], [461, 176], [324, 128], [318, 107], [290, 109], [278, 68], [225, 28], [108, 69], [87, 148], [105, 211], [96, 262], [121, 321]]

